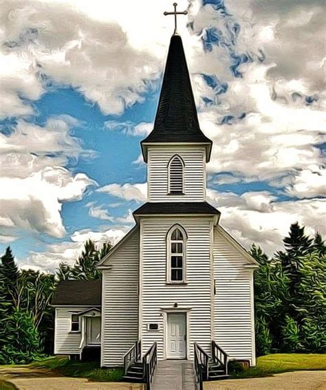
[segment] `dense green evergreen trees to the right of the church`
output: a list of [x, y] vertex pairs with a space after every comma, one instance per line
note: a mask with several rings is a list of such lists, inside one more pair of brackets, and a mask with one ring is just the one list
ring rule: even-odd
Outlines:
[[259, 262], [254, 276], [257, 354], [326, 352], [326, 246], [296, 224], [283, 239], [284, 250]]

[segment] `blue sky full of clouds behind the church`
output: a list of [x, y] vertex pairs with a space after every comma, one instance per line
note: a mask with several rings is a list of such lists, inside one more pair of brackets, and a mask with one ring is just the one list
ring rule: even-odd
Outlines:
[[[53, 271], [146, 201], [172, 1], [0, 0], [0, 251]], [[208, 202], [243, 246], [325, 235], [325, 3], [180, 0]]]

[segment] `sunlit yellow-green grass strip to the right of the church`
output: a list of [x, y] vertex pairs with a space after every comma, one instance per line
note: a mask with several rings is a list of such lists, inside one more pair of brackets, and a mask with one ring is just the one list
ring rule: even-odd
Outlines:
[[240, 373], [230, 373], [232, 378], [271, 376], [274, 373], [300, 370], [326, 370], [326, 354], [271, 354], [257, 358], [257, 366]]

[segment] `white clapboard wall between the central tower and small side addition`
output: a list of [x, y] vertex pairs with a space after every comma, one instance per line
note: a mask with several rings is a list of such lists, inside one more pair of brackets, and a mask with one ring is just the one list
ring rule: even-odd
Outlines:
[[109, 257], [102, 270], [102, 358], [105, 367], [123, 364], [138, 340], [139, 229]]

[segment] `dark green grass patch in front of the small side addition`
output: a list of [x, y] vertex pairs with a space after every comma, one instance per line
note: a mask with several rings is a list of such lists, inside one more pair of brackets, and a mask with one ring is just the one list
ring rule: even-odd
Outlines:
[[78, 362], [67, 358], [47, 358], [30, 364], [32, 368], [50, 369], [53, 373], [74, 378], [87, 378], [100, 382], [115, 382], [121, 379], [122, 369], [100, 368], [99, 362]]

